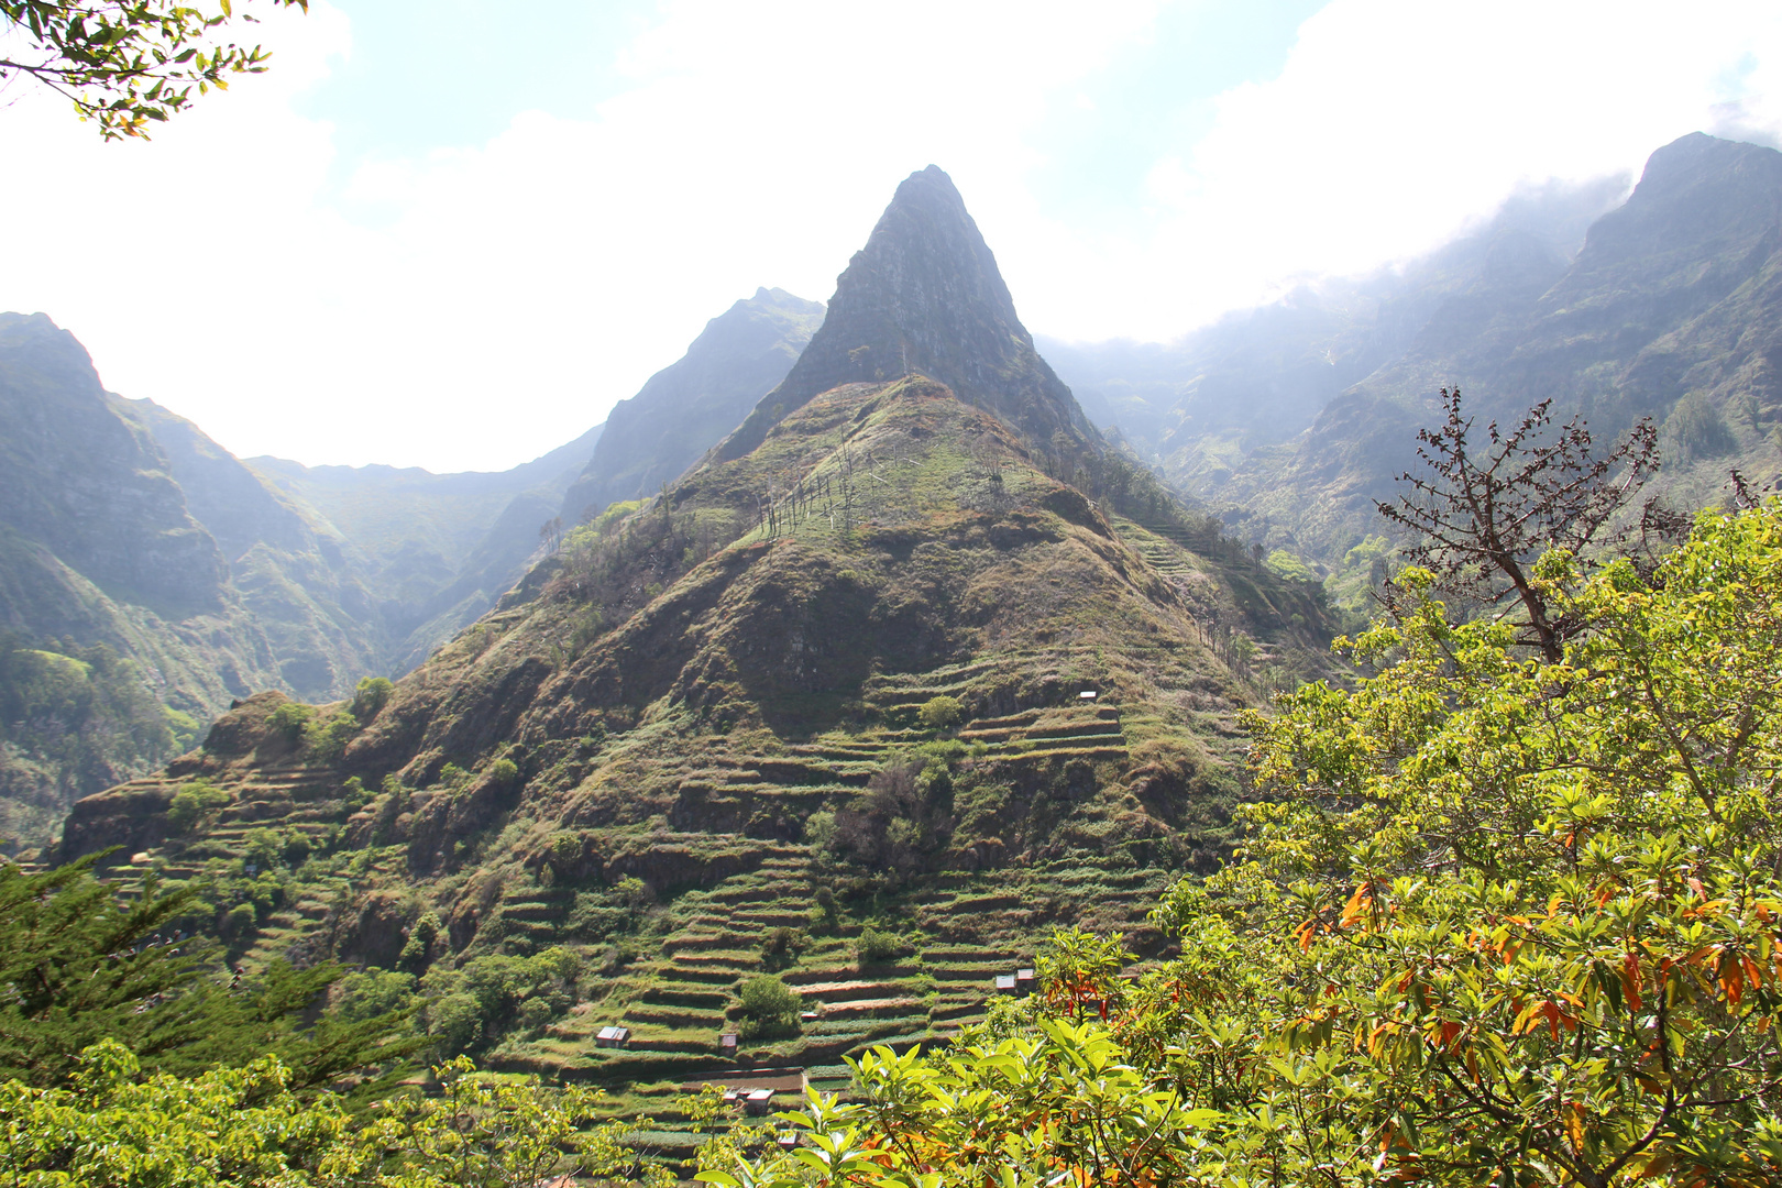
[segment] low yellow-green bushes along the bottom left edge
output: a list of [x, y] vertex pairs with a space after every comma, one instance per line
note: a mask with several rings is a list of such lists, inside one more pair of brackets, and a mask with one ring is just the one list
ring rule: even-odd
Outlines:
[[551, 1176], [674, 1183], [633, 1135], [602, 1122], [588, 1088], [485, 1079], [467, 1060], [435, 1069], [437, 1097], [396, 1097], [351, 1124], [339, 1101], [303, 1101], [273, 1056], [182, 1079], [141, 1076], [105, 1040], [68, 1088], [0, 1083], [0, 1183], [82, 1188], [536, 1188]]

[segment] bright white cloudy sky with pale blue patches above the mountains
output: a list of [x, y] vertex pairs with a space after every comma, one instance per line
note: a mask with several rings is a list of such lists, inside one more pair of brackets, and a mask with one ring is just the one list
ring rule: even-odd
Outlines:
[[1688, 132], [1782, 137], [1773, 0], [235, 11], [271, 71], [150, 142], [0, 91], [0, 310], [310, 465], [561, 445], [757, 287], [827, 299], [928, 164], [1028, 330], [1171, 340]]

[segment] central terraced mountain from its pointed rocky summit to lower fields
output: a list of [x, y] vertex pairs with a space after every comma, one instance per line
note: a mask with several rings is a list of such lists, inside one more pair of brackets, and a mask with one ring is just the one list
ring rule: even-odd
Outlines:
[[[825, 1067], [980, 1012], [1051, 923], [1155, 948], [1157, 891], [1228, 842], [1237, 712], [1271, 666], [1320, 663], [1317, 588], [1094, 440], [939, 171], [898, 191], [807, 358], [836, 342], [909, 342], [953, 381], [804, 394], [800, 362], [374, 716], [255, 698], [80, 801], [64, 855], [214, 876], [241, 960], [362, 960], [442, 1047], [629, 1085], [622, 1108], [734, 1067], [718, 1033], [763, 971], [813, 1017], [745, 1063]], [[169, 816], [198, 778], [228, 803]], [[266, 910], [232, 907], [257, 887]], [[629, 1049], [593, 1044], [608, 1024]]]

